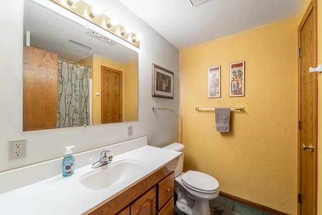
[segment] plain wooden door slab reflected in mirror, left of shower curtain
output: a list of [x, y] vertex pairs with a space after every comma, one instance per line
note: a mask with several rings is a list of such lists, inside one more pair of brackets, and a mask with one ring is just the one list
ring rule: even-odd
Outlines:
[[58, 54], [24, 46], [23, 130], [56, 128]]

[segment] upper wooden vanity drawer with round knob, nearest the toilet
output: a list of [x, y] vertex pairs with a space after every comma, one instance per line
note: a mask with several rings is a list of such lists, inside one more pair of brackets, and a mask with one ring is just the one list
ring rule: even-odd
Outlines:
[[175, 175], [172, 172], [162, 181], [157, 183], [157, 209], [163, 205], [174, 195]]

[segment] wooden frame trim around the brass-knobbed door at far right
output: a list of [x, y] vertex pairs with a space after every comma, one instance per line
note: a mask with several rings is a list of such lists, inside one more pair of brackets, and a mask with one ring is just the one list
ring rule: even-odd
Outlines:
[[[308, 5], [305, 13], [304, 13], [304, 16], [302, 18], [302, 20], [300, 21], [299, 25], [298, 25], [298, 29], [297, 29], [297, 41], [298, 41], [298, 48], [301, 47], [301, 29], [303, 28], [308, 16], [310, 15], [310, 13], [313, 13], [313, 20], [314, 20], [314, 44], [315, 46], [313, 47], [314, 48], [314, 55], [315, 55], [315, 60], [314, 60], [314, 65], [311, 65], [311, 66], [314, 66], [316, 67], [317, 65], [317, 0], [312, 0], [310, 2], [310, 4]], [[311, 74], [313, 75], [315, 78], [316, 78], [316, 89], [314, 91], [314, 95], [316, 100], [315, 100], [315, 121], [314, 121], [314, 124], [315, 124], [315, 129], [316, 129], [316, 132], [315, 132], [315, 136], [314, 136], [314, 143], [313, 145], [315, 146], [315, 149], [314, 149], [314, 153], [316, 153], [316, 156], [315, 156], [315, 175], [314, 175], [314, 195], [317, 196], [317, 135], [318, 135], [318, 132], [317, 132], [317, 88], [318, 88], [318, 85], [317, 85], [317, 75], [316, 73], [314, 74]], [[301, 58], [299, 57], [298, 58], [298, 120], [301, 119]], [[301, 144], [301, 133], [300, 133], [300, 130], [298, 129], [298, 132], [297, 132], [297, 193], [300, 193], [301, 191], [301, 184], [300, 184], [300, 153], [302, 151], [302, 148], [300, 146]], [[314, 202], [314, 205], [315, 205], [315, 213], [317, 212], [317, 198], [315, 198], [315, 202]], [[300, 215], [300, 204], [297, 203], [297, 214]]]

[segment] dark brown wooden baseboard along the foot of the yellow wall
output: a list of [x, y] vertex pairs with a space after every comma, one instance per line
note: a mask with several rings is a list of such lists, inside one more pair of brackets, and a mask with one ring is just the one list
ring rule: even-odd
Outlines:
[[250, 201], [250, 200], [247, 200], [247, 199], [244, 199], [244, 198], [240, 198], [238, 196], [234, 196], [234, 195], [231, 195], [231, 194], [223, 192], [223, 191], [220, 191], [219, 195], [222, 196], [222, 197], [225, 197], [225, 198], [229, 198], [229, 199], [231, 199], [233, 201], [237, 201], [237, 202], [239, 202], [241, 204], [245, 204], [247, 206], [254, 207], [256, 209], [262, 210], [264, 212], [268, 212], [268, 213], [270, 213], [272, 215], [290, 215], [289, 213], [285, 213], [285, 212], [282, 212], [282, 211], [267, 207], [265, 205], [262, 205], [262, 204], [259, 204], [259, 203], [256, 203], [256, 202], [253, 202], [253, 201]]

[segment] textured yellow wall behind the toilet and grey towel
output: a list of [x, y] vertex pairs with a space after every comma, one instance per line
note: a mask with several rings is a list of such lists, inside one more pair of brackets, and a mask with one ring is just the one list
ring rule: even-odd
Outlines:
[[[246, 61], [245, 97], [229, 97], [229, 63]], [[208, 99], [207, 68], [221, 65], [221, 98]], [[180, 50], [180, 142], [184, 170], [215, 177], [220, 190], [296, 214], [297, 18]], [[232, 111], [228, 133], [214, 112]]]

